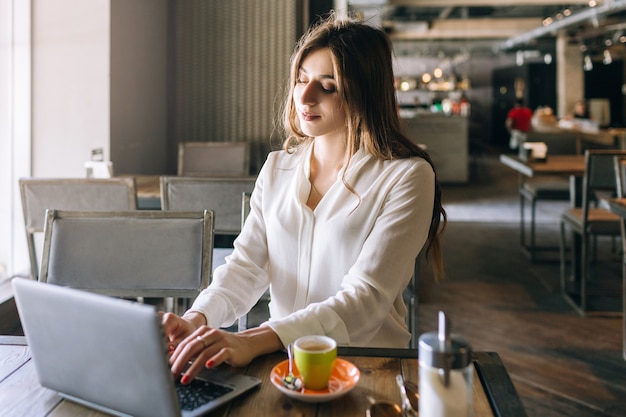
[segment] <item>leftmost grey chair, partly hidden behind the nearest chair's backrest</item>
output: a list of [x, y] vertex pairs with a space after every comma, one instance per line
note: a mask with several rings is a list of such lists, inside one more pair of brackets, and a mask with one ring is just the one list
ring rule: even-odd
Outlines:
[[[132, 178], [22, 178], [19, 180], [31, 277], [38, 276], [35, 236], [44, 229], [46, 209], [135, 210], [137, 197]], [[40, 243], [40, 240], [37, 240]]]

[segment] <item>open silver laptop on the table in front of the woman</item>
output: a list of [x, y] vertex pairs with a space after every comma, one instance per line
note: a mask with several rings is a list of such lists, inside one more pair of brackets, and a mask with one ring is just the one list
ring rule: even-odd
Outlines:
[[[199, 416], [261, 380], [223, 365], [174, 380], [154, 307], [23, 278], [13, 289], [42, 386], [119, 416]], [[190, 400], [191, 399], [191, 400]]]

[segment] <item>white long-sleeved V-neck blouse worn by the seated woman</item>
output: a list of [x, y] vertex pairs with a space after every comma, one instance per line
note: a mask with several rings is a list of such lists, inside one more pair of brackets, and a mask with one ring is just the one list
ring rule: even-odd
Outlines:
[[[307, 334], [340, 345], [406, 347], [402, 292], [428, 236], [434, 172], [422, 158], [359, 150], [315, 210], [312, 146], [268, 155], [235, 250], [191, 310], [210, 327], [246, 314], [270, 288], [271, 327], [286, 346]], [[355, 194], [356, 192], [356, 194]]]

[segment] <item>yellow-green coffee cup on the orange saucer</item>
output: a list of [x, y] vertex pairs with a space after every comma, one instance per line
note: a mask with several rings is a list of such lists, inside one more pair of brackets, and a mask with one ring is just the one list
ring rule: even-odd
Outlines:
[[305, 388], [326, 388], [337, 358], [337, 342], [327, 336], [303, 336], [294, 342], [293, 353]]

